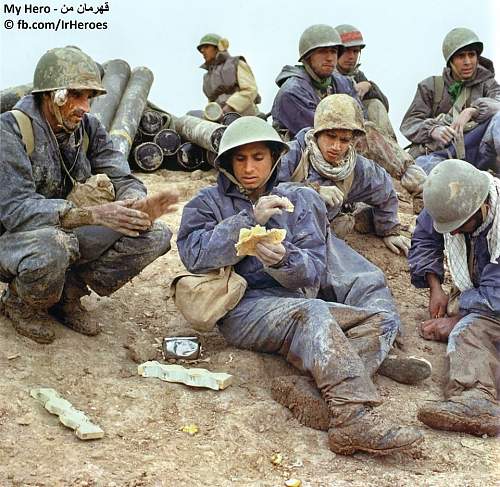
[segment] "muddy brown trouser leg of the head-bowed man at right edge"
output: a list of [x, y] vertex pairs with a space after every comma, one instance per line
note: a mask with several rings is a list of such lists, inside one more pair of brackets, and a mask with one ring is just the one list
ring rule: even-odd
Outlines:
[[446, 398], [479, 389], [498, 400], [500, 318], [477, 313], [464, 316], [450, 334], [446, 358]]

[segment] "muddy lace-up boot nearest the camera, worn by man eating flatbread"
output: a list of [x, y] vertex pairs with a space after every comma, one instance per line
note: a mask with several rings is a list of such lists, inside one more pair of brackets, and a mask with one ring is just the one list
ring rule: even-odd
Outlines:
[[388, 455], [408, 450], [423, 439], [415, 428], [396, 426], [368, 406], [335, 406], [331, 414], [328, 443], [332, 451], [341, 455], [356, 451]]

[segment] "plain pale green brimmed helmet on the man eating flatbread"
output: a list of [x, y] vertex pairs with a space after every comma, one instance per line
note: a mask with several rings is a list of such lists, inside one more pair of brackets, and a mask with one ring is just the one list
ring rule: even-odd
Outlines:
[[277, 144], [283, 152], [288, 150], [278, 132], [265, 120], [259, 117], [241, 117], [236, 119], [227, 127], [219, 144], [219, 153], [215, 159], [215, 167], [219, 167], [225, 161], [225, 156], [231, 149], [252, 142], [272, 142]]

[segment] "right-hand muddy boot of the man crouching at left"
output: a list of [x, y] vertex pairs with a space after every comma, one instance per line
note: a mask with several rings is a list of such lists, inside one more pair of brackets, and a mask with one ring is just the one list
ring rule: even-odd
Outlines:
[[61, 300], [50, 309], [59, 322], [83, 335], [97, 335], [101, 329], [98, 323], [88, 316], [80, 298], [90, 294], [87, 285], [74, 274], [68, 273]]

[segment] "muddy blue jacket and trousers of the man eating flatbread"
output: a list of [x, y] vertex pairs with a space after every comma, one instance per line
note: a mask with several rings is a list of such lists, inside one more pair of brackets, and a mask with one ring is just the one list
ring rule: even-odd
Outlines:
[[[237, 257], [240, 230], [256, 221], [251, 201], [223, 174], [217, 186], [203, 189], [184, 208], [177, 238], [182, 262], [195, 273], [233, 265], [246, 279], [243, 299], [219, 322], [229, 343], [283, 355], [314, 377], [331, 406], [379, 403], [370, 374], [386, 357], [400, 324], [387, 304], [382, 273], [331, 236], [324, 203], [313, 190], [283, 184], [271, 193], [288, 197], [295, 207], [266, 224], [287, 231], [286, 255], [278, 265]], [[308, 297], [319, 288], [335, 302]]]

